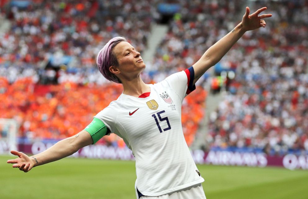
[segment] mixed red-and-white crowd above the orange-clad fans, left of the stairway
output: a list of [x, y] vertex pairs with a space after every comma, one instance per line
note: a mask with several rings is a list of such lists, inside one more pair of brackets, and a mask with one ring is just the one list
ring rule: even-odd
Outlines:
[[[153, 12], [149, 1], [25, 2], [31, 3], [26, 7], [7, 3], [11, 28], [1, 35], [0, 64], [7, 69], [1, 76], [10, 82], [28, 68], [41, 75], [49, 61], [83, 73], [95, 66], [97, 52], [117, 35], [125, 35], [138, 51], [145, 49]], [[75, 75], [75, 81], [78, 77], [82, 78]]]

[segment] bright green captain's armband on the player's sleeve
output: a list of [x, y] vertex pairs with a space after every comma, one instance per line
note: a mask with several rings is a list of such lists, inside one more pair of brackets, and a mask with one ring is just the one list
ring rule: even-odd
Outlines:
[[95, 144], [99, 139], [107, 134], [107, 127], [102, 122], [102, 120], [94, 118], [93, 121], [84, 129], [88, 133], [90, 133], [93, 144]]

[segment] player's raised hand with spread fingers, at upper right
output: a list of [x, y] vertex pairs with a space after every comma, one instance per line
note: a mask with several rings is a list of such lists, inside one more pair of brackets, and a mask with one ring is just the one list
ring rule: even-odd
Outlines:
[[249, 7], [246, 7], [246, 13], [242, 19], [242, 28], [245, 31], [248, 31], [248, 30], [255, 30], [260, 27], [265, 27], [266, 23], [263, 19], [271, 17], [272, 14], [263, 14], [263, 15], [259, 14], [265, 11], [266, 9], [267, 9], [266, 7], [262, 7], [256, 12], [249, 15], [250, 9]]

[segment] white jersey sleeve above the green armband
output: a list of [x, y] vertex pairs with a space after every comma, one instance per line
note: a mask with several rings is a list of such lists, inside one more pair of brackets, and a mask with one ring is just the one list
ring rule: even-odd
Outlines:
[[[109, 104], [105, 109], [97, 113], [94, 118], [102, 120], [111, 133], [116, 132], [116, 108], [113, 103]], [[110, 133], [109, 133], [110, 134]]]

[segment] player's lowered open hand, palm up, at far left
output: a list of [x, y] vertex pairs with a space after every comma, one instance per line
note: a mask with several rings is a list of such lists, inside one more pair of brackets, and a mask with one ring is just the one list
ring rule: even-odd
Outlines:
[[13, 168], [19, 168], [20, 171], [28, 172], [34, 167], [34, 158], [32, 159], [28, 155], [16, 150], [11, 150], [11, 154], [18, 156], [16, 159], [7, 160], [7, 163], [13, 164]]

